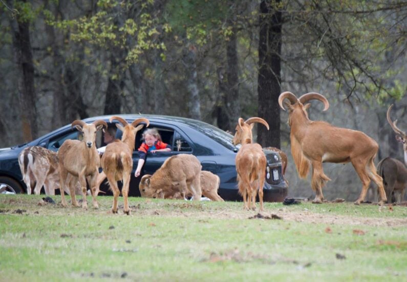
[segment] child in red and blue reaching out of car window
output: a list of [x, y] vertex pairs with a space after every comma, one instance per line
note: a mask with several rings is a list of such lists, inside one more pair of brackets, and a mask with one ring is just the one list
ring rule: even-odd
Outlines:
[[144, 142], [141, 144], [139, 148], [139, 163], [137, 165], [136, 172], [134, 176], [138, 177], [140, 175], [141, 168], [145, 163], [145, 157], [147, 152], [169, 152], [171, 151], [171, 147], [168, 144], [165, 144], [161, 140], [160, 133], [158, 133], [157, 129], [150, 128], [144, 131], [143, 133]]

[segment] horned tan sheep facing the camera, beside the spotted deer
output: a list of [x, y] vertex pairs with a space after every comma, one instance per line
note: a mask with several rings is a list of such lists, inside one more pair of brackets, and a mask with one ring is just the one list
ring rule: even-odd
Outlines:
[[[59, 148], [58, 161], [61, 191], [65, 190], [67, 177], [70, 174], [72, 177], [68, 185], [71, 191], [72, 206], [77, 207], [78, 203], [76, 202], [73, 186], [79, 180], [82, 189], [82, 208], [87, 209], [86, 179], [88, 177], [92, 191], [93, 207], [97, 209], [99, 206], [96, 200], [96, 177], [99, 174], [100, 156], [96, 149], [95, 139], [97, 131], [103, 127], [108, 128], [108, 124], [101, 119], [95, 120], [92, 124], [77, 119], [72, 123], [72, 127], [75, 127], [83, 134], [83, 139], [65, 140]], [[61, 193], [61, 204], [64, 207], [67, 206], [64, 193]]]

